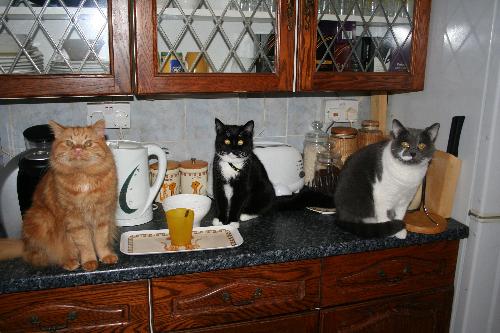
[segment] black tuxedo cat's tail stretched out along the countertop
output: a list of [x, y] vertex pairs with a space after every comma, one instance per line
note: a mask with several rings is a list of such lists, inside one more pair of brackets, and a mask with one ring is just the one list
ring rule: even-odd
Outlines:
[[276, 197], [273, 204], [277, 210], [300, 210], [306, 207], [334, 208], [333, 195], [304, 188], [296, 194]]

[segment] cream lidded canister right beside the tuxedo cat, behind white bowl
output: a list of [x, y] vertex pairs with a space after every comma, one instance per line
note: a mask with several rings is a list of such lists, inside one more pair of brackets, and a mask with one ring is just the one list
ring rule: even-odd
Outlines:
[[208, 162], [192, 158], [180, 164], [181, 193], [207, 194]]

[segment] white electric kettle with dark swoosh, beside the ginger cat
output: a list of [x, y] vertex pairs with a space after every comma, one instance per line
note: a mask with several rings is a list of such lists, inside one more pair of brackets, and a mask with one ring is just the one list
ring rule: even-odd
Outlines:
[[[167, 171], [167, 155], [155, 144], [127, 140], [109, 140], [118, 173], [116, 224], [129, 227], [153, 219], [153, 200]], [[158, 159], [158, 175], [149, 183], [149, 156]]]

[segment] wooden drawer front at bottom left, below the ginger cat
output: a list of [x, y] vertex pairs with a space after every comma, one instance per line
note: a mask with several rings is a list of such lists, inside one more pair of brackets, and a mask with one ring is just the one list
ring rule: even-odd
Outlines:
[[147, 281], [0, 295], [0, 332], [147, 332]]

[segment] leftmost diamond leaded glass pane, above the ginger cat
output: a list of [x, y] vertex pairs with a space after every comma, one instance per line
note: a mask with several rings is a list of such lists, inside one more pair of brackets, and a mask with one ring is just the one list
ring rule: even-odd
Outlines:
[[109, 74], [107, 0], [0, 0], [0, 74]]

